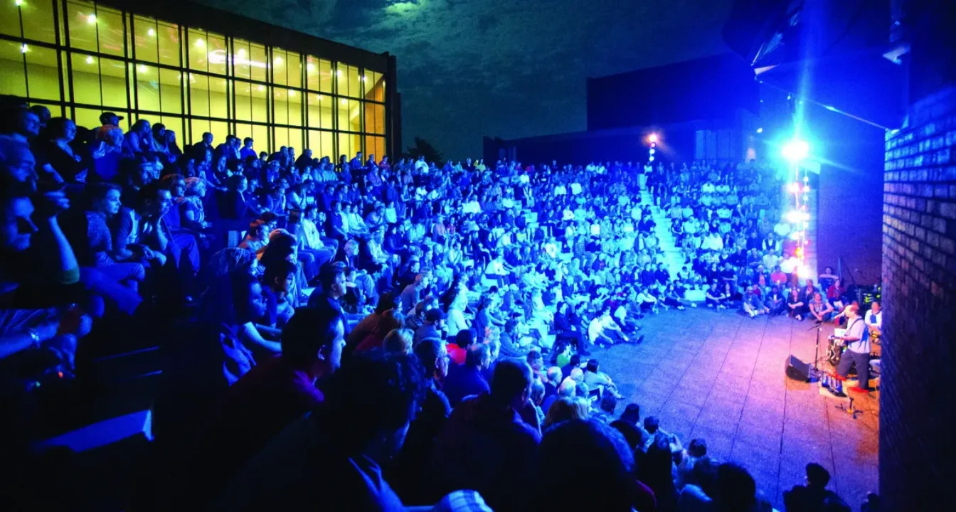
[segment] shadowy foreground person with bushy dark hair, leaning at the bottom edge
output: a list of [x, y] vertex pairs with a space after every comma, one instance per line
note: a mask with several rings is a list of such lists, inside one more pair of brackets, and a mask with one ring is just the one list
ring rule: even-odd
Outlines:
[[[380, 462], [399, 452], [424, 392], [414, 357], [359, 354], [228, 484], [212, 510], [402, 510]], [[316, 461], [321, 461], [316, 463]]]

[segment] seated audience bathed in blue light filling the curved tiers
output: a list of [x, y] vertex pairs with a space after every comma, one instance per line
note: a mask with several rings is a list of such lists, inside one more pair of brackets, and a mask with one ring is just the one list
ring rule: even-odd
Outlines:
[[[0, 377], [22, 404], [116, 326], [163, 332], [140, 508], [770, 509], [619, 411], [590, 351], [661, 309], [842, 310], [832, 270], [801, 283], [771, 169], [333, 161], [122, 120], [4, 99]], [[807, 472], [787, 510], [848, 509]]]

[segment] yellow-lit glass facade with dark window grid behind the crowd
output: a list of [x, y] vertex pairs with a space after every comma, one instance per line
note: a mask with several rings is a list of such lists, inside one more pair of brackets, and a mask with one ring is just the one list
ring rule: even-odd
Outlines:
[[0, 94], [94, 127], [99, 114], [162, 122], [315, 156], [386, 152], [386, 70], [167, 23], [96, 2], [0, 0]]

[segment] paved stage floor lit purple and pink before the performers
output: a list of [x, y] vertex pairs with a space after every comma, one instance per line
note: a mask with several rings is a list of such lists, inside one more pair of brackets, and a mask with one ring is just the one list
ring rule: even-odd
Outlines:
[[[746, 466], [778, 510], [808, 462], [830, 471], [829, 488], [854, 510], [877, 492], [879, 392], [852, 395], [854, 420], [836, 409], [845, 398], [784, 374], [792, 353], [813, 361], [812, 322], [700, 308], [648, 315], [641, 327], [641, 345], [592, 351], [625, 396], [618, 413], [633, 401], [684, 443], [704, 437], [708, 455]], [[820, 332], [821, 356], [833, 329]]]

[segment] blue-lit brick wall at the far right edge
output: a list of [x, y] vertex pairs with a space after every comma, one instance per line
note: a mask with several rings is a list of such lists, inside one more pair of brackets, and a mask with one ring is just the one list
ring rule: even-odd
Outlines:
[[884, 510], [944, 510], [956, 454], [956, 88], [915, 102], [887, 134], [882, 230], [880, 495]]

